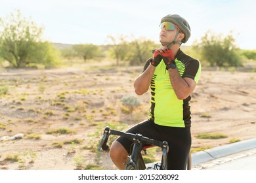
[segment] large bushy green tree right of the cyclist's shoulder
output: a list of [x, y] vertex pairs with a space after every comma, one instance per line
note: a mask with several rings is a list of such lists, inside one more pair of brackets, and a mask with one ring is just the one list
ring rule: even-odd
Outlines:
[[240, 66], [242, 65], [235, 39], [230, 32], [226, 37], [207, 31], [194, 48], [200, 50], [202, 59], [211, 66]]

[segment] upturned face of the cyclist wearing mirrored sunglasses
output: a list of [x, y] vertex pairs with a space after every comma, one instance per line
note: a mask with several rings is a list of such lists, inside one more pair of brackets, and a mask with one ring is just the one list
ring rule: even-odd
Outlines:
[[[174, 24], [171, 24], [171, 22], [163, 22], [160, 24], [160, 37], [159, 41], [163, 46], [167, 46], [171, 42], [174, 41], [176, 33], [177, 33], [177, 27]], [[177, 37], [177, 41], [181, 41], [184, 37], [184, 34], [179, 33]]]

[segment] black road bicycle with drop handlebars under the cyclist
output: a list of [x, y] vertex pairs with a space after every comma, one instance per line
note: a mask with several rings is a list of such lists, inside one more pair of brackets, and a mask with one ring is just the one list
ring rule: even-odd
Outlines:
[[[149, 139], [148, 137], [143, 137], [140, 134], [125, 133], [123, 131], [118, 131], [110, 129], [110, 127], [105, 127], [102, 139], [98, 146], [98, 151], [108, 150], [107, 145], [108, 137], [110, 135], [123, 136], [133, 141], [131, 155], [129, 155], [127, 163], [125, 163], [125, 170], [144, 170], [144, 169], [155, 169], [155, 170], [166, 170], [167, 169], [167, 154], [169, 152], [169, 145], [167, 141], [156, 141], [154, 139]], [[147, 146], [144, 146], [147, 144]], [[154, 164], [154, 167], [146, 167], [144, 160], [142, 158], [141, 152], [153, 146], [158, 146], [162, 150], [161, 162]], [[188, 157], [187, 169], [191, 169], [191, 155]]]

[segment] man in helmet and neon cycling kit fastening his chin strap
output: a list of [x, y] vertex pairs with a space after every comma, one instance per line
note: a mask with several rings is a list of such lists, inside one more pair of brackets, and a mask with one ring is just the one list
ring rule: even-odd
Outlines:
[[[190, 25], [184, 18], [168, 14], [161, 18], [160, 29], [162, 46], [146, 61], [143, 73], [134, 82], [137, 95], [151, 89], [150, 114], [148, 120], [127, 132], [167, 141], [167, 169], [186, 169], [191, 146], [189, 101], [198, 84], [201, 65], [180, 49], [190, 37]], [[124, 169], [132, 143], [125, 137], [113, 142], [110, 158], [117, 168]]]

